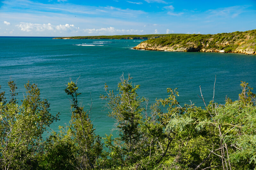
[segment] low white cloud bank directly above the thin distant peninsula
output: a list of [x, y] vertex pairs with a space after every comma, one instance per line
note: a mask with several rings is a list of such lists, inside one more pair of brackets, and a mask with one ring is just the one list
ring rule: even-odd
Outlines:
[[95, 28], [92, 28], [92, 29], [83, 29], [84, 32], [86, 33], [99, 33], [99, 34], [117, 34], [117, 33], [142, 33], [143, 30], [134, 30], [134, 29], [128, 29], [128, 30], [125, 30], [125, 29], [116, 29], [114, 27], [108, 27], [108, 28], [100, 28], [100, 29], [95, 29]]

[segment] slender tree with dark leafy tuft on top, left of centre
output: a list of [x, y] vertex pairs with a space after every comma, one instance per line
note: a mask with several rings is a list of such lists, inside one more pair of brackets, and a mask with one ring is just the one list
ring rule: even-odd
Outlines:
[[77, 168], [93, 169], [100, 156], [102, 144], [100, 137], [96, 136], [93, 124], [90, 119], [90, 110], [84, 111], [84, 107], [79, 106], [77, 82], [68, 83], [65, 92], [70, 95], [72, 116], [68, 130], [64, 132], [63, 138], [72, 140], [77, 148]]

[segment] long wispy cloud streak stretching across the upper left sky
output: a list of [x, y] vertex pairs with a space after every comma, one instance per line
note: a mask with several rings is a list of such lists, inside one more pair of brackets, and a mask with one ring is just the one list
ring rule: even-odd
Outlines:
[[[131, 2], [131, 1], [130, 1]], [[71, 3], [57, 3], [57, 4], [43, 4], [39, 2], [33, 2], [29, 0], [9, 0], [3, 1], [5, 5], [8, 5], [10, 8], [26, 11], [29, 13], [65, 13], [65, 14], [74, 14], [74, 15], [84, 15], [89, 14], [92, 17], [108, 14], [108, 17], [138, 17], [141, 14], [146, 12], [142, 10], [132, 10], [132, 9], [122, 9], [113, 6], [88, 6], [88, 5], [78, 5]], [[29, 9], [29, 10], [28, 10]], [[40, 9], [40, 10], [39, 10]]]

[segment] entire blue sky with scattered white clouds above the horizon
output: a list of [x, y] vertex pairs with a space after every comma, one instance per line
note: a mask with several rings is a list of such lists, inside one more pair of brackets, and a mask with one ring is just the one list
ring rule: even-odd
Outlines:
[[1, 0], [0, 36], [216, 34], [256, 29], [256, 0]]

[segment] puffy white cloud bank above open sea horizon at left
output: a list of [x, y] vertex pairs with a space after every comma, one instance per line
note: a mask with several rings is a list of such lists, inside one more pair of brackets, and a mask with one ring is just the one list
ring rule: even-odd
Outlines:
[[33, 23], [20, 23], [19, 25], [16, 25], [18, 28], [20, 28], [21, 31], [75, 31], [77, 28], [72, 24], [65, 24], [65, 25], [57, 25], [54, 26], [50, 23], [48, 24], [33, 24]]

